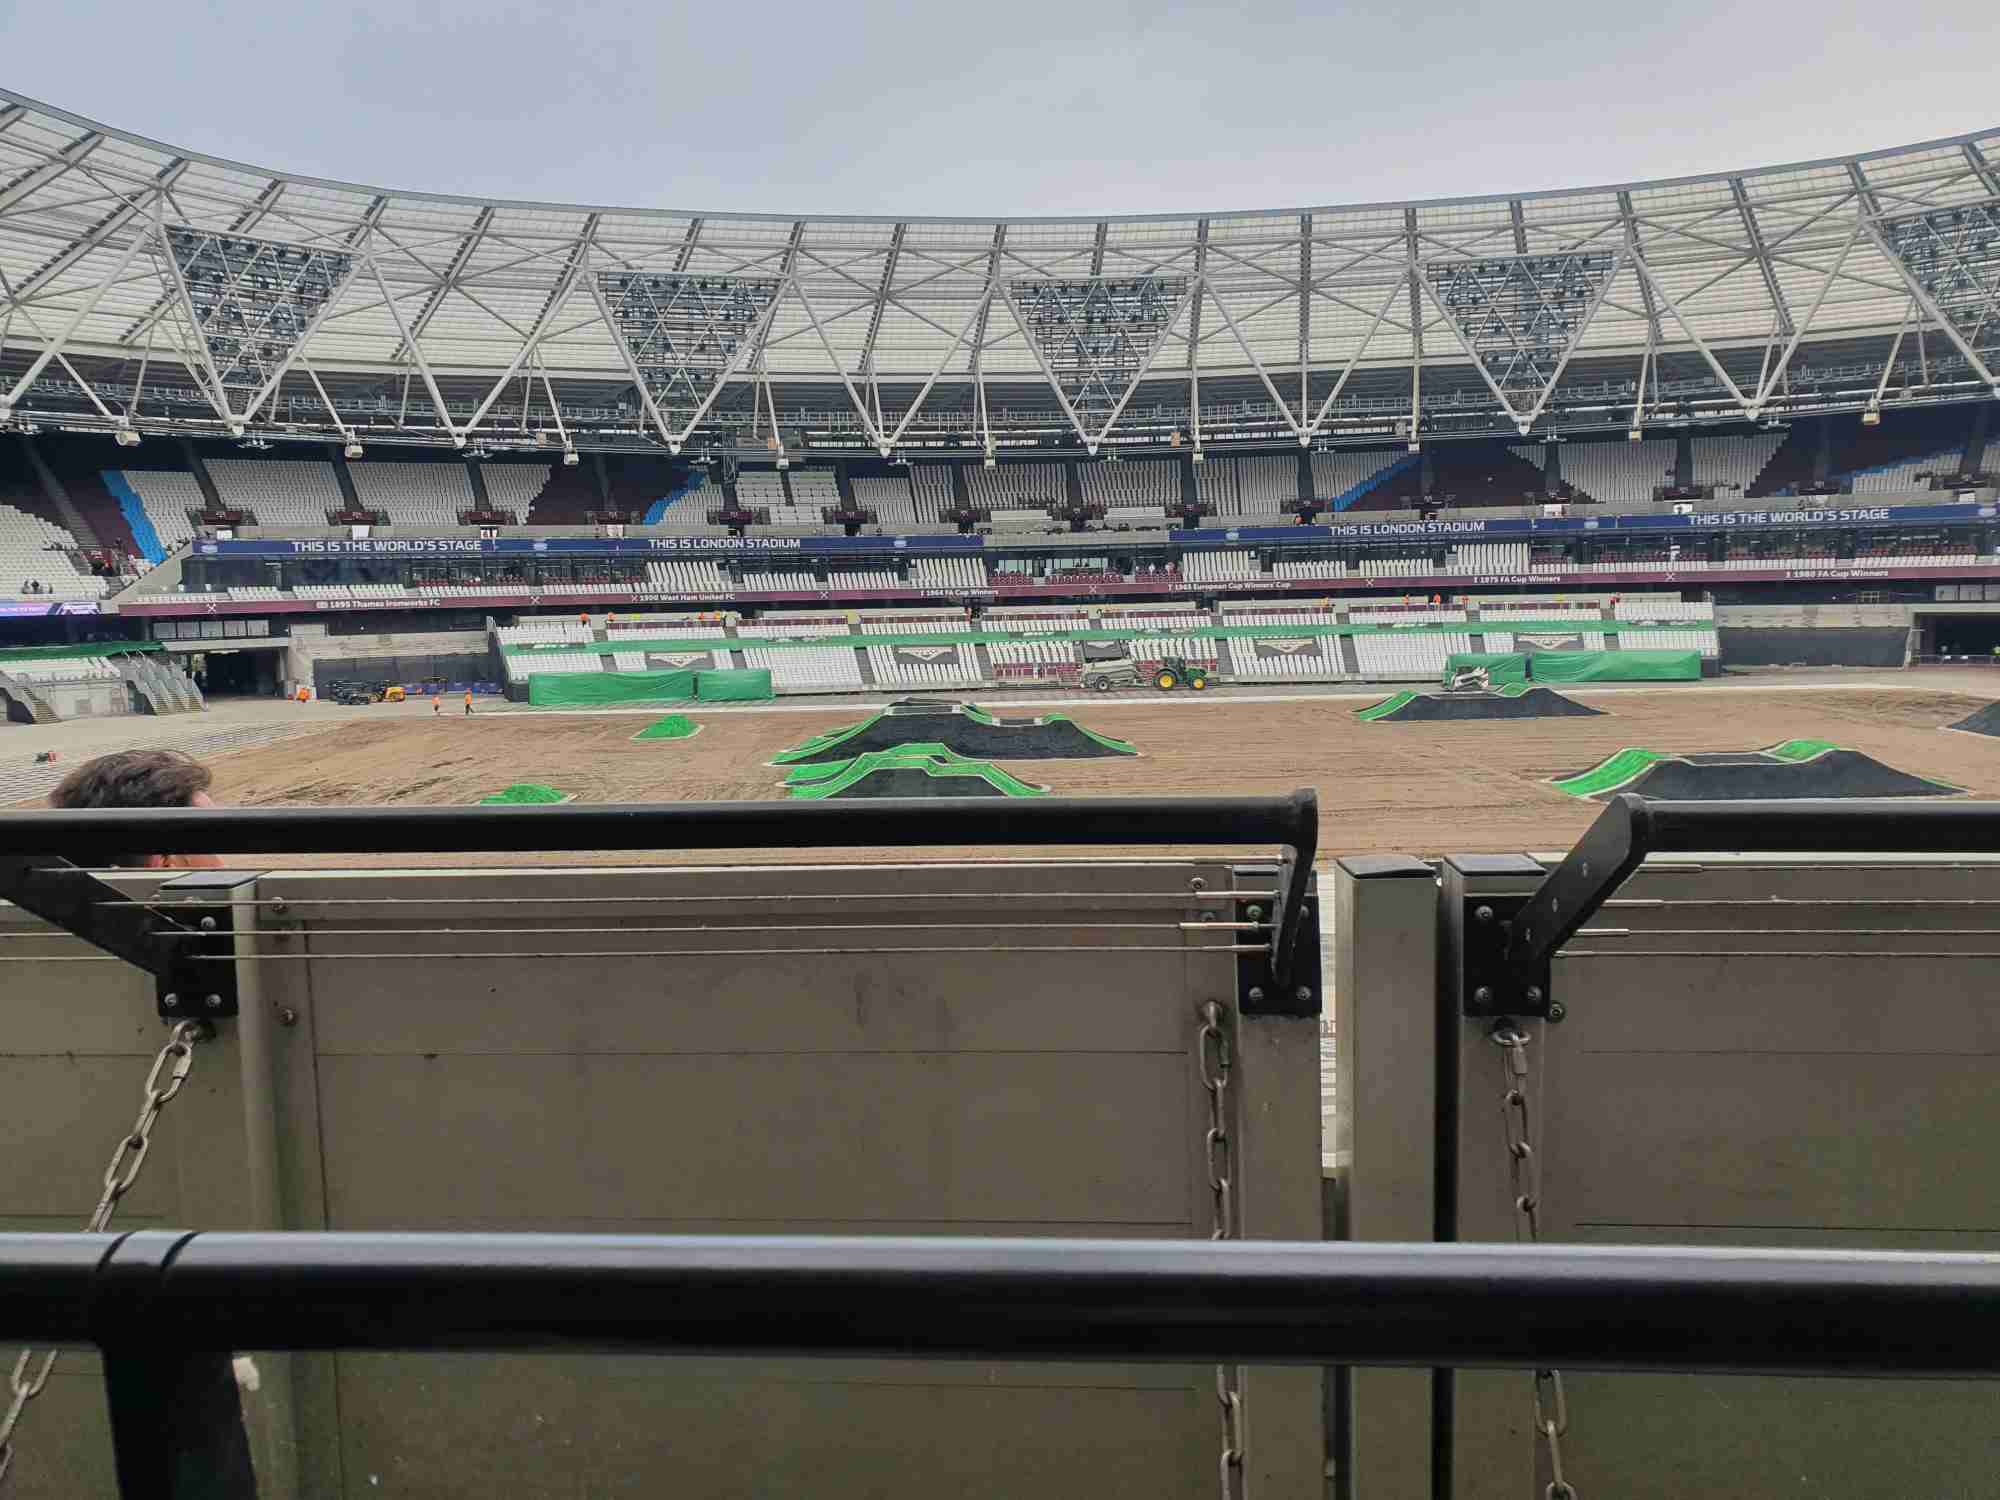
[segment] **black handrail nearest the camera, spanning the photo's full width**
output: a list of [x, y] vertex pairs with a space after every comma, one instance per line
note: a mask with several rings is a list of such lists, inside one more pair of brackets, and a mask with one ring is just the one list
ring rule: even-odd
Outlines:
[[2000, 1376], [2000, 1254], [0, 1234], [0, 1342]]

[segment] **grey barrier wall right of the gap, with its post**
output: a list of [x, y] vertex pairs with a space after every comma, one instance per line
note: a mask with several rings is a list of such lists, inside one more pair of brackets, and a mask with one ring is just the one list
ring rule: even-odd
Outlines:
[[[1562, 1022], [1518, 1022], [1518, 1162], [1510, 1050], [1460, 1016], [1450, 918], [1532, 890], [1542, 864], [1392, 866], [1336, 874], [1352, 1238], [1530, 1238], [1532, 1192], [1544, 1242], [2000, 1248], [2000, 864], [1648, 862], [1558, 954]], [[1426, 920], [1434, 944], [1412, 936]], [[1336, 1494], [1528, 1500], [1554, 1478], [1528, 1372], [1348, 1386]], [[1542, 1396], [1554, 1410], [1552, 1382]], [[1980, 1496], [2000, 1474], [1992, 1384], [1578, 1374], [1562, 1398], [1580, 1494]]]

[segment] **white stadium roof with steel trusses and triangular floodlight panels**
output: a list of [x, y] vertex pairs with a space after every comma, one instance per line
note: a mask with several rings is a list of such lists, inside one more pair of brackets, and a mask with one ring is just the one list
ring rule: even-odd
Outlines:
[[324, 182], [0, 90], [16, 422], [1098, 448], [1988, 392], [2000, 130], [1518, 198], [790, 218]]

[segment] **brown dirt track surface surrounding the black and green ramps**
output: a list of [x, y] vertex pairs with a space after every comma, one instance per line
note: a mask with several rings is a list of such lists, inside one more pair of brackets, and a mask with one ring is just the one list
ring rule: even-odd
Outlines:
[[[1010, 764], [1018, 776], [1076, 796], [1222, 792], [1320, 794], [1324, 854], [1562, 850], [1598, 804], [1546, 782], [1622, 746], [1760, 750], [1824, 738], [1918, 776], [2000, 798], [2000, 744], [1940, 726], [1984, 704], [1946, 692], [1788, 690], [1758, 694], [1680, 688], [1586, 698], [1600, 718], [1524, 722], [1362, 724], [1356, 700], [1174, 700], [1092, 704], [1076, 718], [1138, 744], [1106, 760]], [[238, 806], [470, 804], [510, 782], [546, 782], [582, 802], [776, 798], [784, 772], [764, 762], [812, 734], [854, 722], [854, 710], [694, 714], [694, 740], [634, 742], [648, 720], [618, 716], [480, 714], [432, 720], [398, 710], [356, 718], [312, 738], [214, 762], [216, 796]], [[1172, 850], [1128, 850], [1162, 854]], [[1188, 850], [1182, 850], [1188, 852]], [[1018, 850], [1076, 856], [1082, 850]], [[972, 858], [978, 850], [912, 850], [910, 858]], [[648, 856], [550, 856], [636, 864]], [[840, 852], [704, 854], [676, 862], [806, 862]], [[852, 856], [850, 856], [852, 858]], [[902, 858], [898, 854], [898, 858]], [[356, 864], [354, 858], [300, 860]], [[410, 858], [374, 860], [412, 864]], [[422, 864], [522, 864], [464, 856]]]

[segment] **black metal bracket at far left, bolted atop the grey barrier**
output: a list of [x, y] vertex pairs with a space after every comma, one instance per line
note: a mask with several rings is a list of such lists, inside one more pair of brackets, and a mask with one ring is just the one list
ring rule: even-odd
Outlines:
[[[196, 870], [134, 902], [60, 854], [0, 854], [0, 898], [152, 974], [162, 1020], [228, 1020], [236, 1014], [236, 966], [228, 892], [256, 880], [234, 870]], [[202, 902], [174, 912], [176, 898]]]

